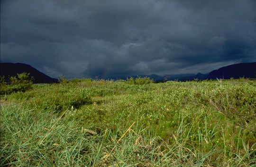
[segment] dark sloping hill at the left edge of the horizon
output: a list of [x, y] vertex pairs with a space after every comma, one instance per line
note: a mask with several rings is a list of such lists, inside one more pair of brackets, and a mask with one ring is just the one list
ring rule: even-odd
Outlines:
[[15, 76], [17, 74], [26, 72], [33, 76], [35, 83], [57, 83], [58, 79], [51, 78], [44, 73], [38, 71], [36, 68], [23, 63], [0, 63], [1, 76]]

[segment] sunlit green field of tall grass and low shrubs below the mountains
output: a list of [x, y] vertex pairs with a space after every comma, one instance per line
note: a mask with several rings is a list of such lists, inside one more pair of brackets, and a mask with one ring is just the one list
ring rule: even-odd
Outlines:
[[256, 80], [34, 84], [0, 126], [0, 166], [249, 167]]

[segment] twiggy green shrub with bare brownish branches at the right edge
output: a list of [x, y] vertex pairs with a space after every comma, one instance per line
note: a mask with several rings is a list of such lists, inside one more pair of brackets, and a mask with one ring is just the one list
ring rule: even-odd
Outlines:
[[256, 132], [256, 91], [252, 91], [248, 84], [216, 89], [210, 104], [234, 124], [243, 128], [251, 125], [251, 130]]

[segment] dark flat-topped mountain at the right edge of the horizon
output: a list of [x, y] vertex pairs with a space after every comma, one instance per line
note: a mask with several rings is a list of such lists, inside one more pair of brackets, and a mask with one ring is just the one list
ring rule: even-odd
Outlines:
[[217, 70], [213, 70], [208, 75], [208, 79], [230, 79], [233, 78], [256, 78], [256, 62], [253, 63], [239, 63], [226, 67], [221, 67]]

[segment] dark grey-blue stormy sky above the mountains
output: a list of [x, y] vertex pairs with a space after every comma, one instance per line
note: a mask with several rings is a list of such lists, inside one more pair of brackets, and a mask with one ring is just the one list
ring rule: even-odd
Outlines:
[[0, 60], [51, 77], [208, 73], [256, 61], [255, 0], [1, 0]]

